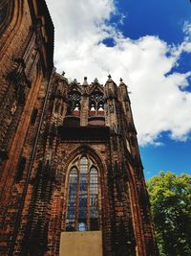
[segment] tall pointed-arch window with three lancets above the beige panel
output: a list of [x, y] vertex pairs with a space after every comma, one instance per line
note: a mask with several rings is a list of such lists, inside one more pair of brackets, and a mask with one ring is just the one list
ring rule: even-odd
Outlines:
[[69, 171], [66, 231], [99, 229], [99, 182], [89, 155], [79, 155]]

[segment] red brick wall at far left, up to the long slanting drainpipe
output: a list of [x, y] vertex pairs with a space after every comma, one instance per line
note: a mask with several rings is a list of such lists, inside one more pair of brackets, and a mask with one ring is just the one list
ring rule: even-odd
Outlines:
[[[0, 150], [8, 155], [7, 160], [0, 161], [1, 255], [8, 255], [11, 248], [11, 236], [50, 79], [50, 70], [44, 69], [42, 48], [39, 48], [39, 43], [44, 44], [43, 37], [39, 37], [40, 32], [32, 23], [32, 18], [36, 17], [32, 16], [28, 1], [12, 2], [11, 23], [0, 37]], [[33, 107], [38, 109], [34, 125], [31, 124]], [[26, 157], [26, 164], [17, 180], [21, 156]], [[30, 194], [27, 198], [31, 198]]]

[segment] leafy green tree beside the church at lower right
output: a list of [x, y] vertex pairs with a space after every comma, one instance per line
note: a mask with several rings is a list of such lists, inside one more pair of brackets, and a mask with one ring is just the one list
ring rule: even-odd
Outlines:
[[191, 175], [160, 172], [147, 181], [161, 256], [191, 255]]

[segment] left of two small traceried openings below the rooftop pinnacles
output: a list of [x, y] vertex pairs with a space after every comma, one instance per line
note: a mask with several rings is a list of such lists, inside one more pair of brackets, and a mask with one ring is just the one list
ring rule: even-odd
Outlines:
[[78, 92], [71, 92], [68, 95], [68, 111], [67, 115], [73, 115], [76, 112], [80, 111], [81, 105], [81, 96]]

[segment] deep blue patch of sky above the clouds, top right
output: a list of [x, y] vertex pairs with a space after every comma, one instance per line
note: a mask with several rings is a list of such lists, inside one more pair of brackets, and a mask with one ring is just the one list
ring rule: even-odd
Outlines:
[[169, 43], [180, 43], [183, 23], [191, 20], [189, 0], [125, 0], [117, 1], [117, 6], [127, 16], [121, 29], [135, 39], [158, 35]]

